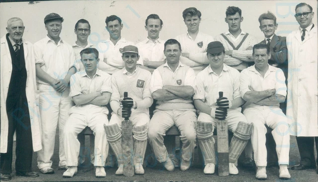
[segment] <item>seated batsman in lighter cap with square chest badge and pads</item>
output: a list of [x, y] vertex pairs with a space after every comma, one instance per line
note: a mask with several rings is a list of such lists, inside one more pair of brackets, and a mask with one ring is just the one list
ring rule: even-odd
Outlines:
[[105, 131], [107, 140], [119, 164], [116, 175], [123, 175], [123, 160], [125, 159], [123, 159], [121, 147], [120, 128], [124, 118], [122, 118], [121, 101], [124, 99], [124, 92], [128, 92], [129, 97], [132, 98], [134, 102], [129, 120], [133, 123], [135, 174], [143, 175], [145, 173], [143, 162], [147, 147], [148, 124], [150, 121], [148, 108], [153, 104], [153, 98], [149, 90], [151, 73], [148, 70], [136, 66], [140, 58], [137, 47], [131, 45], [125, 46], [122, 54], [125, 67], [112, 74], [111, 84], [113, 93], [110, 98], [110, 106], [114, 112], [112, 113], [109, 123], [105, 124]]

